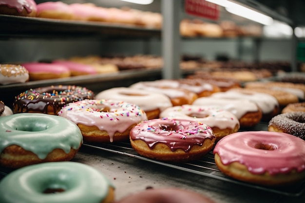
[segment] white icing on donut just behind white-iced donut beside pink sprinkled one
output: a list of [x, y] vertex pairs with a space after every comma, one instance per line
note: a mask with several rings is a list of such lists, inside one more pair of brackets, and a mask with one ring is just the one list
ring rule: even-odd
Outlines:
[[254, 102], [246, 99], [218, 99], [215, 97], [200, 97], [193, 102], [193, 105], [214, 106], [220, 109], [230, 111], [238, 119], [243, 117], [247, 112], [256, 112], [258, 107]]

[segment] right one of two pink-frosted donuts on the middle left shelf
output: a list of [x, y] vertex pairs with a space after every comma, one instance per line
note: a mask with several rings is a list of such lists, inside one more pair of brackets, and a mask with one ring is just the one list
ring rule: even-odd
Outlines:
[[55, 60], [52, 64], [62, 65], [67, 67], [72, 76], [84, 75], [84, 74], [97, 74], [97, 71], [93, 66], [76, 63], [73, 61]]

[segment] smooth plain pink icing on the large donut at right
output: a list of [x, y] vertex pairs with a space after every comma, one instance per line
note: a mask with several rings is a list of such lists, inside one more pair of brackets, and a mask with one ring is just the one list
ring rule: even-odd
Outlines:
[[[270, 145], [274, 150], [255, 148]], [[253, 174], [288, 173], [305, 170], [305, 141], [290, 134], [268, 131], [237, 132], [221, 139], [215, 146], [224, 165], [239, 162]]]

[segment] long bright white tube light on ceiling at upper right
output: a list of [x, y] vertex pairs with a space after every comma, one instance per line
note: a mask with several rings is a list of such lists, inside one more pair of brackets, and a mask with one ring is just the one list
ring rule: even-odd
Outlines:
[[259, 22], [264, 25], [270, 25], [273, 22], [273, 19], [265, 14], [259, 13], [252, 9], [249, 9], [240, 4], [231, 2], [229, 0], [206, 0], [226, 8], [229, 13], [247, 18], [256, 22]]

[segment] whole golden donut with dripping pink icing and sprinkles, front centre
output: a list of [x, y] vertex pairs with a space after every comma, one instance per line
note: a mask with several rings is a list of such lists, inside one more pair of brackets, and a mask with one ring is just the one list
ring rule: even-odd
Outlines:
[[207, 125], [180, 119], [152, 119], [130, 131], [130, 142], [137, 153], [161, 161], [199, 159], [210, 152], [215, 140]]

